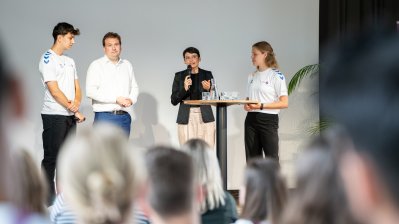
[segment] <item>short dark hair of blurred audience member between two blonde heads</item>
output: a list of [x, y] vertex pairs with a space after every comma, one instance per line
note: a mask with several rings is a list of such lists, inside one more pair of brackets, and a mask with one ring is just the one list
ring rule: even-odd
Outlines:
[[190, 156], [171, 147], [158, 146], [146, 154], [149, 203], [161, 216], [170, 217], [192, 209], [194, 169]]

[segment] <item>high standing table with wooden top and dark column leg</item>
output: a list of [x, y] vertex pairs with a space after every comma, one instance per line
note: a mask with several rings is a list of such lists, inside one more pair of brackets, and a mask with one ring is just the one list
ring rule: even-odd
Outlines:
[[188, 105], [212, 105], [216, 107], [216, 154], [227, 190], [227, 106], [258, 103], [256, 100], [184, 100]]

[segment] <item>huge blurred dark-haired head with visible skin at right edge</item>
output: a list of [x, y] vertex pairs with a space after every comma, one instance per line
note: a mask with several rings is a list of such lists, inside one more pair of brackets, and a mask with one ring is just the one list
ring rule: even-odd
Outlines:
[[397, 223], [398, 34], [375, 29], [332, 46], [326, 55], [320, 103], [322, 112], [342, 125], [353, 141], [340, 160], [351, 209], [365, 223]]

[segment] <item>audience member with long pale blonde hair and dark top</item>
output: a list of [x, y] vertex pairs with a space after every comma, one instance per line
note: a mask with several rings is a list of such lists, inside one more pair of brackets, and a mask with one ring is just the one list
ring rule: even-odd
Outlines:
[[201, 139], [188, 140], [183, 146], [194, 161], [195, 179], [202, 187], [202, 223], [233, 223], [237, 219], [233, 196], [223, 190], [219, 163], [210, 146]]

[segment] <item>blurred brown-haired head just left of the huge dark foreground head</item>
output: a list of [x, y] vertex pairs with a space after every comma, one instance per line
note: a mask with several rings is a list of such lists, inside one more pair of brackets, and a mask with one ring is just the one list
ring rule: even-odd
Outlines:
[[284, 212], [284, 224], [354, 223], [335, 157], [345, 142], [338, 132], [316, 138], [299, 156], [297, 186]]

